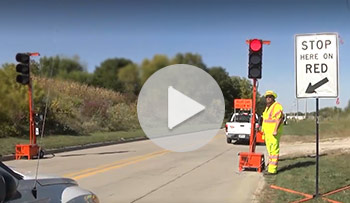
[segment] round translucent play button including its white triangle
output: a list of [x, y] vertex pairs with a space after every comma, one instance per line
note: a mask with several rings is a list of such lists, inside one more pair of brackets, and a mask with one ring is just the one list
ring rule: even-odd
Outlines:
[[155, 72], [140, 91], [137, 115], [146, 136], [176, 152], [196, 150], [222, 127], [225, 102], [216, 81], [186, 64]]

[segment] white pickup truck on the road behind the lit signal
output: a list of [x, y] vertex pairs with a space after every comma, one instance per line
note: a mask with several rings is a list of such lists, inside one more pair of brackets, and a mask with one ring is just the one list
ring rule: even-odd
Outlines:
[[[256, 127], [258, 126], [258, 116], [255, 114]], [[234, 113], [225, 125], [227, 143], [232, 140], [249, 141], [251, 129], [250, 113]]]

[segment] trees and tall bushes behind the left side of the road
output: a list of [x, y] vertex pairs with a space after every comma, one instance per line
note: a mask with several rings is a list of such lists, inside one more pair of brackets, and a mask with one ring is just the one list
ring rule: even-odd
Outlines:
[[[44, 114], [46, 148], [59, 148], [139, 136], [137, 96], [157, 70], [172, 64], [190, 64], [208, 72], [219, 84], [232, 113], [235, 98], [250, 98], [250, 80], [230, 76], [223, 67], [207, 67], [199, 54], [179, 53], [172, 58], [155, 55], [141, 64], [125, 58], [109, 58], [90, 73], [78, 56], [54, 56], [31, 61], [35, 113]], [[27, 86], [16, 83], [16, 64], [0, 68], [0, 154], [14, 153], [15, 144], [29, 142]], [[258, 112], [264, 108], [258, 94]], [[105, 136], [107, 135], [108, 136]], [[124, 135], [123, 135], [124, 136]], [[143, 135], [144, 136], [144, 135]], [[64, 141], [63, 141], [64, 140]], [[74, 141], [73, 141], [74, 140]]]

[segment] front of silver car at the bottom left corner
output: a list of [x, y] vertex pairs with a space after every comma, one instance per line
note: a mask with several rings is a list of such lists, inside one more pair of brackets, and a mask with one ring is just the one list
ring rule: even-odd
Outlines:
[[0, 161], [0, 203], [3, 202], [89, 202], [98, 203], [97, 196], [80, 188], [69, 178], [27, 179]]

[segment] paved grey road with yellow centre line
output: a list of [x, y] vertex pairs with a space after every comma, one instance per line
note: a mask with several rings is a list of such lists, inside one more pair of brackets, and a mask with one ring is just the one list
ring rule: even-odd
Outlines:
[[[238, 172], [240, 151], [248, 146], [227, 144], [220, 131], [193, 152], [170, 152], [146, 140], [59, 153], [40, 160], [39, 174], [71, 177], [101, 202], [251, 202], [262, 175]], [[36, 163], [6, 162], [27, 175]]]

